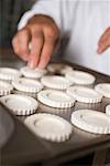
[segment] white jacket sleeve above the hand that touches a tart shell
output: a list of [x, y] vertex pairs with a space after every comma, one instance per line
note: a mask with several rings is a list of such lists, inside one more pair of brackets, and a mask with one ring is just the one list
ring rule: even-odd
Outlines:
[[28, 21], [35, 14], [45, 14], [53, 18], [59, 30], [63, 29], [62, 2], [62, 0], [37, 0], [31, 10], [23, 14], [18, 29], [24, 28]]

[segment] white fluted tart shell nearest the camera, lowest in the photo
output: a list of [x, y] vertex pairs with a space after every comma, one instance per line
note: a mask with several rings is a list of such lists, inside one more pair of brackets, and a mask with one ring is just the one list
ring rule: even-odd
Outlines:
[[56, 143], [67, 141], [73, 132], [73, 126], [66, 120], [52, 114], [34, 114], [24, 123], [35, 135]]

